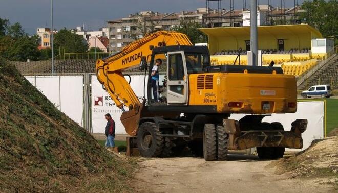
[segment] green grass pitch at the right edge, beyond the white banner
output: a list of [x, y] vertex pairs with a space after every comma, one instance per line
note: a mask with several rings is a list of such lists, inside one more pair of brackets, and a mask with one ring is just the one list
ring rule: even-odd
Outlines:
[[[313, 101], [322, 99], [302, 99], [301, 101]], [[338, 128], [338, 99], [326, 100], [326, 134], [329, 134], [334, 128]]]

